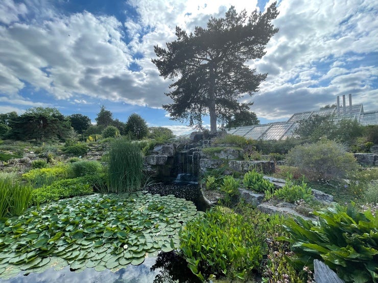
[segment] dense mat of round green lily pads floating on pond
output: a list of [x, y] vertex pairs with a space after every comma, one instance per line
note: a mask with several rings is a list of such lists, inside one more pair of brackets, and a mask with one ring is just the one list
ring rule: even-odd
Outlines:
[[41, 205], [0, 220], [0, 278], [67, 265], [117, 270], [179, 247], [178, 233], [197, 214], [172, 195], [90, 195]]

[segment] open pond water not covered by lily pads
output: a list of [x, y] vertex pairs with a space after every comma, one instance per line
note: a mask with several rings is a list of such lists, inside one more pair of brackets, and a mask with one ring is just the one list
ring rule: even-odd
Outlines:
[[[152, 194], [173, 194], [179, 198], [191, 200], [199, 211], [206, 211], [207, 203], [203, 199], [198, 184], [193, 181], [177, 181], [173, 184], [156, 184], [149, 186], [147, 191]], [[108, 269], [98, 272], [94, 268], [86, 268], [76, 273], [69, 266], [56, 271], [54, 268], [42, 273], [30, 273], [23, 275], [25, 271], [2, 283], [197, 283], [200, 280], [193, 275], [187, 267], [184, 259], [180, 258], [175, 251], [160, 252], [156, 258], [146, 258], [143, 264], [138, 266], [128, 265], [125, 269], [112, 272]]]

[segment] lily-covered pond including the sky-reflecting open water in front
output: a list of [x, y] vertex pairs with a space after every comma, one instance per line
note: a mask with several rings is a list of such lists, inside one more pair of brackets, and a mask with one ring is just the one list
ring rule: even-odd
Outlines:
[[95, 194], [0, 221], [0, 281], [198, 282], [174, 251], [196, 207], [158, 188], [167, 195]]

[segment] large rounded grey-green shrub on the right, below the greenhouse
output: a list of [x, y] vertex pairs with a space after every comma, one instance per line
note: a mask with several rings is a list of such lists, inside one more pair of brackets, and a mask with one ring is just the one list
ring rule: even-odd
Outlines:
[[295, 146], [289, 151], [287, 162], [310, 180], [343, 178], [358, 167], [353, 154], [346, 152], [342, 144], [325, 138]]

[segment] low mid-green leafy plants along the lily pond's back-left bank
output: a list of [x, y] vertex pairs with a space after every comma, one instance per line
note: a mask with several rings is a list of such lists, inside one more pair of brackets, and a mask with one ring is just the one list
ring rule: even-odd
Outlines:
[[86, 195], [93, 190], [85, 177], [64, 179], [32, 191], [32, 202], [40, 204], [61, 198]]

